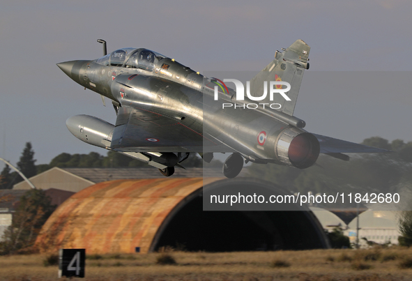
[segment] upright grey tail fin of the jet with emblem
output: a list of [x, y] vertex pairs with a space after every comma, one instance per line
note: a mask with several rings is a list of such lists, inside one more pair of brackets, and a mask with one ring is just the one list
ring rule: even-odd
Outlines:
[[279, 103], [282, 105], [280, 112], [293, 115], [303, 72], [309, 69], [307, 61], [309, 61], [310, 47], [303, 40], [296, 40], [289, 48], [282, 50], [283, 53], [276, 51], [275, 59], [250, 81], [250, 93], [252, 96], [261, 96], [264, 93], [265, 81], [268, 86], [270, 81], [289, 82], [291, 89], [287, 92], [287, 96], [291, 101], [284, 100], [280, 95], [275, 95], [274, 100], [271, 101], [267, 95], [261, 102]]

